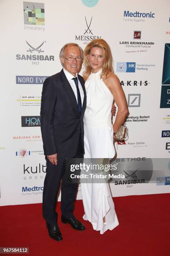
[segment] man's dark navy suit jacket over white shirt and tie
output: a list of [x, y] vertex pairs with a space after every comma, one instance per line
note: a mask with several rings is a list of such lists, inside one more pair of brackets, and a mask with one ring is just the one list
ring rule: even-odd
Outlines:
[[86, 108], [84, 79], [78, 75], [84, 92], [81, 114], [75, 94], [63, 69], [48, 77], [42, 87], [40, 111], [41, 133], [45, 155], [59, 154], [72, 158], [76, 154], [80, 137], [84, 150], [83, 116]]

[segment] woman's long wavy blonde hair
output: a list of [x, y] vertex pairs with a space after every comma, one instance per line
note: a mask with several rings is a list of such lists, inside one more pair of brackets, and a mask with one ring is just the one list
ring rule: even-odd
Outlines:
[[94, 39], [92, 40], [84, 50], [84, 66], [85, 71], [83, 72], [83, 78], [86, 81], [89, 77], [92, 68], [90, 67], [87, 55], [90, 54], [90, 50], [93, 47], [100, 47], [103, 51], [103, 57], [104, 57], [104, 64], [102, 65], [102, 73], [100, 78], [107, 78], [107, 75], [109, 72], [113, 73], [113, 67], [112, 67], [112, 53], [110, 50], [110, 46], [107, 44], [107, 42], [104, 39]]

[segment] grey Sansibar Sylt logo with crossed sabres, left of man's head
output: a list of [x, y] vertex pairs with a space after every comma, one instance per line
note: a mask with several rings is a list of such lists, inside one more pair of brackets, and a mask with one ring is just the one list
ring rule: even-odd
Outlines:
[[43, 41], [39, 46], [34, 47], [28, 41], [26, 43], [29, 46], [29, 49], [27, 52], [30, 52], [30, 54], [16, 54], [16, 59], [17, 60], [27, 60], [27, 61], [32, 61], [32, 65], [39, 65], [39, 61], [54, 61], [54, 56], [53, 55], [35, 55], [32, 53], [37, 52], [38, 54], [43, 53], [44, 51], [42, 50], [41, 46], [45, 43], [46, 41]]

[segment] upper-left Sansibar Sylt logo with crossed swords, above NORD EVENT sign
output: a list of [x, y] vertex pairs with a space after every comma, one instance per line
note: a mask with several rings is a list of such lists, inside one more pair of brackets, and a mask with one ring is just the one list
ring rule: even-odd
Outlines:
[[32, 44], [26, 41], [27, 52], [29, 54], [16, 54], [17, 60], [31, 61], [32, 65], [39, 65], [40, 61], [54, 61], [53, 55], [44, 55], [43, 46], [46, 41], [42, 41], [40, 44]]

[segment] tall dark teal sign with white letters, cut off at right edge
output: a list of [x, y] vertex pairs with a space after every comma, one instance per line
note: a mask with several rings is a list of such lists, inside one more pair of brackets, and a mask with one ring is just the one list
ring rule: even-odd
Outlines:
[[170, 44], [165, 44], [160, 108], [170, 108]]

